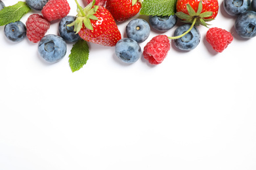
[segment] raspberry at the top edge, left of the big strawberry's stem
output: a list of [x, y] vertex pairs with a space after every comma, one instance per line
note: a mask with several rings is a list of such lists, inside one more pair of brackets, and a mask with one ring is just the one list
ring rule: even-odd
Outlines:
[[49, 0], [41, 12], [43, 17], [51, 22], [67, 16], [70, 12], [70, 5], [66, 0]]

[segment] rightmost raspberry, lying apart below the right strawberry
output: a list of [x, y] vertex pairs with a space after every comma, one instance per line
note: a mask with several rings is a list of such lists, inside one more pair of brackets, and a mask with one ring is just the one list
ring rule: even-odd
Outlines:
[[208, 29], [206, 33], [206, 41], [211, 44], [213, 49], [217, 52], [223, 52], [223, 50], [233, 41], [233, 37], [230, 32], [218, 27], [212, 27]]

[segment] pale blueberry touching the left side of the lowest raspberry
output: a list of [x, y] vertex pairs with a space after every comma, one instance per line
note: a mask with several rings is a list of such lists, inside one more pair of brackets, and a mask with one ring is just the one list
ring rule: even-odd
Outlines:
[[125, 63], [135, 63], [141, 56], [142, 51], [137, 41], [123, 38], [116, 43], [116, 56]]

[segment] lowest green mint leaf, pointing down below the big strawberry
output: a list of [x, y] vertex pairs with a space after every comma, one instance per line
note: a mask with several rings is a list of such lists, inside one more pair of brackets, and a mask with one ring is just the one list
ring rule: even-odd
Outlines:
[[71, 53], [69, 56], [70, 69], [74, 73], [83, 67], [86, 64], [89, 58], [89, 46], [86, 41], [80, 39], [75, 42], [71, 49]]

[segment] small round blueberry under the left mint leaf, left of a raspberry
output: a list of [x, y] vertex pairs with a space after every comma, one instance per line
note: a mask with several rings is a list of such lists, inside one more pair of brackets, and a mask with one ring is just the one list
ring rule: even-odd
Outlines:
[[11, 22], [5, 25], [5, 36], [13, 42], [20, 42], [26, 37], [26, 25], [23, 22]]

